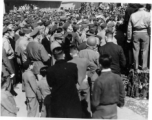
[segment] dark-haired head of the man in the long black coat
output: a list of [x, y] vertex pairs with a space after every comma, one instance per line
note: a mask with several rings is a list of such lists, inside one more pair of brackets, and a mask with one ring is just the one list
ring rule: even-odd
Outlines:
[[64, 51], [62, 47], [57, 47], [53, 50], [53, 56], [56, 60], [62, 60], [65, 58]]

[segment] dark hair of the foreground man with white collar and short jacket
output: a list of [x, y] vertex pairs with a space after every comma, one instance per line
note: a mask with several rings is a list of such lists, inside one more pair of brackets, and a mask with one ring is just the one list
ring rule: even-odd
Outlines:
[[111, 62], [112, 62], [112, 57], [108, 54], [103, 54], [99, 57], [99, 63], [105, 69], [110, 68]]

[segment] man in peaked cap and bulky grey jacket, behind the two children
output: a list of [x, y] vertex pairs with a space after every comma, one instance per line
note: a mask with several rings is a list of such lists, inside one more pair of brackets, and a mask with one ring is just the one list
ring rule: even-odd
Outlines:
[[33, 41], [29, 42], [27, 45], [27, 56], [28, 59], [33, 61], [34, 64], [34, 69], [33, 72], [34, 74], [37, 75], [38, 79], [40, 79], [40, 69], [44, 67], [45, 65], [50, 65], [50, 57], [45, 50], [44, 46], [39, 43], [38, 41], [41, 39], [39, 35], [39, 30], [36, 28], [30, 36], [33, 38]]

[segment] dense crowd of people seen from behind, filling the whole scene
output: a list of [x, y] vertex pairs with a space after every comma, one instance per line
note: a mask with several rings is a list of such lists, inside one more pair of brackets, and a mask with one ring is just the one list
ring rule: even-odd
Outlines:
[[127, 95], [122, 74], [149, 70], [151, 5], [85, 5], [4, 14], [2, 116], [17, 116], [22, 84], [28, 117], [117, 119]]

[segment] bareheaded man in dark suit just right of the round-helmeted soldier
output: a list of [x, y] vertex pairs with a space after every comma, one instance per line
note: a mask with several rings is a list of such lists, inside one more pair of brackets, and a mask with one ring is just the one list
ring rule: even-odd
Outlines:
[[113, 32], [106, 31], [106, 44], [99, 48], [100, 55], [109, 54], [112, 57], [111, 70], [116, 74], [121, 74], [121, 67], [125, 67], [126, 58], [121, 46], [114, 44]]

